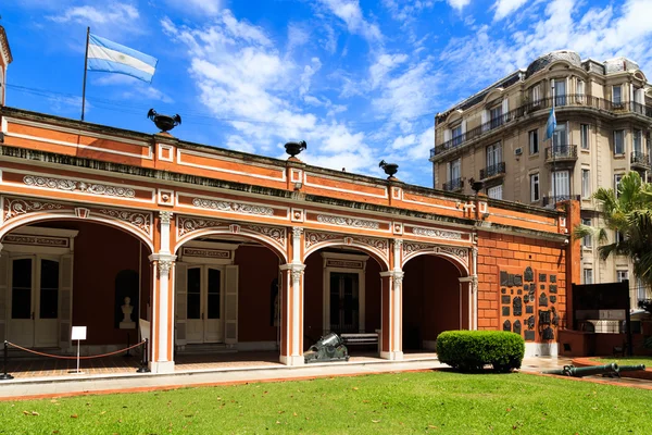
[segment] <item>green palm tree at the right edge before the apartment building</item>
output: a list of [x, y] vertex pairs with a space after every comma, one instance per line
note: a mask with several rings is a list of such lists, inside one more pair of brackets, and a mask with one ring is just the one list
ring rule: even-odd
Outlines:
[[[652, 286], [652, 184], [643, 183], [632, 171], [623, 176], [617, 192], [599, 188], [593, 198], [599, 202], [604, 225], [578, 225], [574, 237], [597, 235], [602, 260], [612, 253], [629, 257], [634, 275], [647, 287]], [[610, 234], [614, 234], [612, 240]]]

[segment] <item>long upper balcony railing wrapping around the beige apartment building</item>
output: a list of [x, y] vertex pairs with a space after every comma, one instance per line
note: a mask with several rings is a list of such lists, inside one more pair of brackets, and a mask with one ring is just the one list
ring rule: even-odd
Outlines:
[[467, 130], [462, 135], [457, 135], [450, 140], [447, 140], [442, 144], [437, 145], [435, 148], [430, 149], [430, 159], [435, 156], [440, 154], [450, 149], [462, 146], [468, 140], [475, 139], [477, 137], [484, 136], [489, 132], [498, 129], [503, 125], [519, 119], [528, 113], [536, 112], [538, 110], [550, 109], [552, 107], [552, 102], [554, 100], [554, 104], [557, 109], [562, 108], [590, 108], [597, 110], [604, 110], [613, 113], [638, 113], [640, 115], [652, 119], [652, 107], [634, 102], [634, 101], [625, 101], [620, 103], [614, 103], [610, 100], [605, 100], [604, 98], [590, 97], [582, 94], [567, 94], [556, 97], [541, 98], [539, 100], [528, 101], [521, 107], [503, 113], [501, 116], [490, 120], [475, 128]]

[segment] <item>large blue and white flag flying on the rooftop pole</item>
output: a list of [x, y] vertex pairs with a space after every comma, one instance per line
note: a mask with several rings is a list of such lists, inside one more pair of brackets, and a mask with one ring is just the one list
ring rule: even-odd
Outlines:
[[151, 55], [96, 35], [88, 39], [88, 70], [126, 74], [151, 83], [156, 63]]

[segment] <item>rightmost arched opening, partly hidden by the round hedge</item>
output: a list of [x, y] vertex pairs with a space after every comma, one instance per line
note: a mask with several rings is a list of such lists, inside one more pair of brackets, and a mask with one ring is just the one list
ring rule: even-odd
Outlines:
[[468, 328], [466, 276], [457, 264], [436, 254], [410, 259], [403, 266], [403, 351], [435, 350], [443, 331]]

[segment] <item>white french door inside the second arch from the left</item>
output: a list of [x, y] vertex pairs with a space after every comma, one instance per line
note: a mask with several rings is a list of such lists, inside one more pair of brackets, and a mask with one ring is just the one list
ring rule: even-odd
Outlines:
[[187, 270], [187, 343], [224, 341], [223, 268], [188, 266]]

